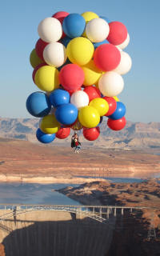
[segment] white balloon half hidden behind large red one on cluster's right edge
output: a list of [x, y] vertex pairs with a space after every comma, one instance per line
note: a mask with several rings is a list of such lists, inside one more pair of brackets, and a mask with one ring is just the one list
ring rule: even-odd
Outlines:
[[126, 74], [130, 71], [132, 66], [132, 60], [130, 55], [127, 54], [125, 51], [121, 51], [121, 61], [116, 69], [112, 70], [117, 72], [118, 74]]

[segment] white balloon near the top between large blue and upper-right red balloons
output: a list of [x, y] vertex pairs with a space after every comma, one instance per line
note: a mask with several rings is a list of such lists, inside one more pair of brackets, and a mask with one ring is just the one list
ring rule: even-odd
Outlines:
[[94, 18], [86, 24], [86, 36], [91, 42], [104, 41], [110, 32], [110, 26], [103, 18]]

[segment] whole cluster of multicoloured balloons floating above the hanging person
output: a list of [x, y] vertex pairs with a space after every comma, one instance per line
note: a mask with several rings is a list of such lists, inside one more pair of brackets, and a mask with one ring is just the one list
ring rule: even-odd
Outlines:
[[93, 141], [103, 117], [110, 129], [122, 130], [126, 106], [117, 96], [124, 87], [122, 74], [132, 64], [123, 51], [130, 42], [126, 26], [90, 11], [59, 11], [39, 23], [38, 35], [30, 64], [42, 91], [26, 100], [29, 113], [40, 118], [38, 141], [67, 138], [70, 129], [82, 129]]

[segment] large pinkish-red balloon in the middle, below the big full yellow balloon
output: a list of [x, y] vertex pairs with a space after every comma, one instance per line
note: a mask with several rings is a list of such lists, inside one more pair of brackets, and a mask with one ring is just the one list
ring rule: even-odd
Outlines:
[[77, 90], [82, 86], [85, 74], [76, 64], [67, 64], [59, 73], [60, 83], [66, 90]]

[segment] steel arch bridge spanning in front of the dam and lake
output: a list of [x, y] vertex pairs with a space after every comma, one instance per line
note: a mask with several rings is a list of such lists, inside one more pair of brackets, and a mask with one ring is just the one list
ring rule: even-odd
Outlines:
[[0, 204], [0, 222], [10, 218], [16, 218], [20, 214], [34, 211], [59, 211], [78, 214], [80, 217], [92, 218], [97, 222], [108, 223], [110, 214], [124, 214], [124, 211], [132, 213], [136, 210], [150, 209], [150, 207], [129, 206], [65, 206], [65, 205], [24, 205], [24, 204]]

